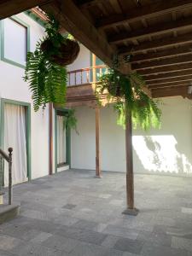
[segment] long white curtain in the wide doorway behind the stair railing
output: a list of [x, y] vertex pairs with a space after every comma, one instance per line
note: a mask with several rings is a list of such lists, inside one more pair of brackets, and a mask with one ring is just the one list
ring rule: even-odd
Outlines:
[[[4, 106], [4, 150], [9, 147], [13, 151], [13, 184], [27, 180], [26, 166], [26, 110], [25, 107], [13, 104]], [[8, 185], [8, 164], [4, 168], [4, 183]]]

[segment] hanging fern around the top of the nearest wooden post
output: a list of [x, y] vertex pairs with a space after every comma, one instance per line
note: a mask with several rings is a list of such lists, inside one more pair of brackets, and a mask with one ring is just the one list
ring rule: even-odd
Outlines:
[[123, 75], [115, 69], [101, 76], [96, 86], [96, 96], [108, 91], [108, 102], [118, 114], [117, 124], [125, 128], [126, 109], [131, 113], [133, 127], [143, 130], [160, 128], [161, 111], [158, 102], [143, 92], [144, 79], [138, 73]]

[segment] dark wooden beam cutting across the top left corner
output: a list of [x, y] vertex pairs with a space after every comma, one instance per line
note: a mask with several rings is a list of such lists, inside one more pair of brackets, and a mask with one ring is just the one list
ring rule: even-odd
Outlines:
[[50, 2], [51, 0], [0, 0], [0, 20]]

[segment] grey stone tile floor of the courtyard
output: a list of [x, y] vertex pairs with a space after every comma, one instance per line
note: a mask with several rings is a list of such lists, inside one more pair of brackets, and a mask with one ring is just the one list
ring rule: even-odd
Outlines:
[[125, 174], [66, 171], [15, 186], [20, 217], [0, 225], [1, 256], [192, 255], [192, 178], [136, 175], [137, 217]]

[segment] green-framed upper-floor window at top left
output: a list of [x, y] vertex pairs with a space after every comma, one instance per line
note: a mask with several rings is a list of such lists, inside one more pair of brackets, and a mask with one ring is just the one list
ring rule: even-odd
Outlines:
[[19, 67], [26, 66], [26, 53], [29, 50], [29, 27], [18, 18], [2, 21], [1, 58]]

